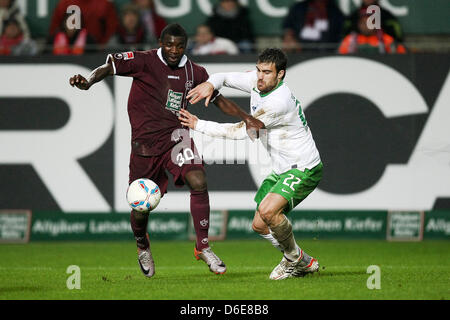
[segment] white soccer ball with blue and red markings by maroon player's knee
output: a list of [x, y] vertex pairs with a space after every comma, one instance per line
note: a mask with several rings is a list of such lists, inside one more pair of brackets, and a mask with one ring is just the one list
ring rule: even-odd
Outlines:
[[128, 186], [127, 201], [133, 210], [150, 212], [158, 206], [159, 200], [161, 200], [161, 191], [150, 179], [136, 179]]

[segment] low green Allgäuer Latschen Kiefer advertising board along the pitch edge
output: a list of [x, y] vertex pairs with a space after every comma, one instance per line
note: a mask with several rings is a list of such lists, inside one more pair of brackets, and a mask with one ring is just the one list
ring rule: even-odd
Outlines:
[[[0, 212], [0, 241], [21, 241], [27, 232], [30, 241], [133, 240], [129, 213], [37, 211], [30, 225], [26, 219], [11, 219], [12, 215], [6, 219], [8, 212]], [[253, 216], [253, 211], [246, 210], [211, 212], [210, 238], [258, 239], [251, 227]], [[297, 211], [289, 219], [298, 239], [450, 240], [450, 211]], [[25, 232], [13, 234], [11, 230]], [[151, 213], [148, 232], [156, 241], [195, 239], [188, 212]]]

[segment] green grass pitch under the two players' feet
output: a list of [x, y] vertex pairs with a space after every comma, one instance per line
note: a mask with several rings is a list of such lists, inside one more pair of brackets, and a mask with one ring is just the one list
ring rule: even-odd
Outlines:
[[[430, 299], [450, 296], [450, 242], [298, 240], [319, 259], [319, 274], [269, 280], [281, 253], [260, 240], [214, 242], [224, 275], [193, 255], [193, 242], [154, 241], [153, 278], [145, 278], [133, 242], [42, 242], [0, 245], [0, 299], [303, 300]], [[66, 287], [67, 267], [81, 289]], [[370, 265], [380, 289], [369, 290]]]

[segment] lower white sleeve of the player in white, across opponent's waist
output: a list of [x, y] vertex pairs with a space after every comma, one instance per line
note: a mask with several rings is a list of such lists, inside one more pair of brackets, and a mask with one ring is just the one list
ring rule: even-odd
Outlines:
[[218, 123], [214, 121], [198, 120], [195, 131], [210, 137], [243, 140], [247, 137], [244, 121], [238, 123]]

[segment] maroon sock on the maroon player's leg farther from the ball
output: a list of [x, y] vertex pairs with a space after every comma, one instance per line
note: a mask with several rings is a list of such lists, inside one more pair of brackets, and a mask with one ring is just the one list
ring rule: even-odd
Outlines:
[[197, 235], [196, 248], [203, 250], [209, 247], [209, 195], [207, 190], [191, 190], [191, 215]]

